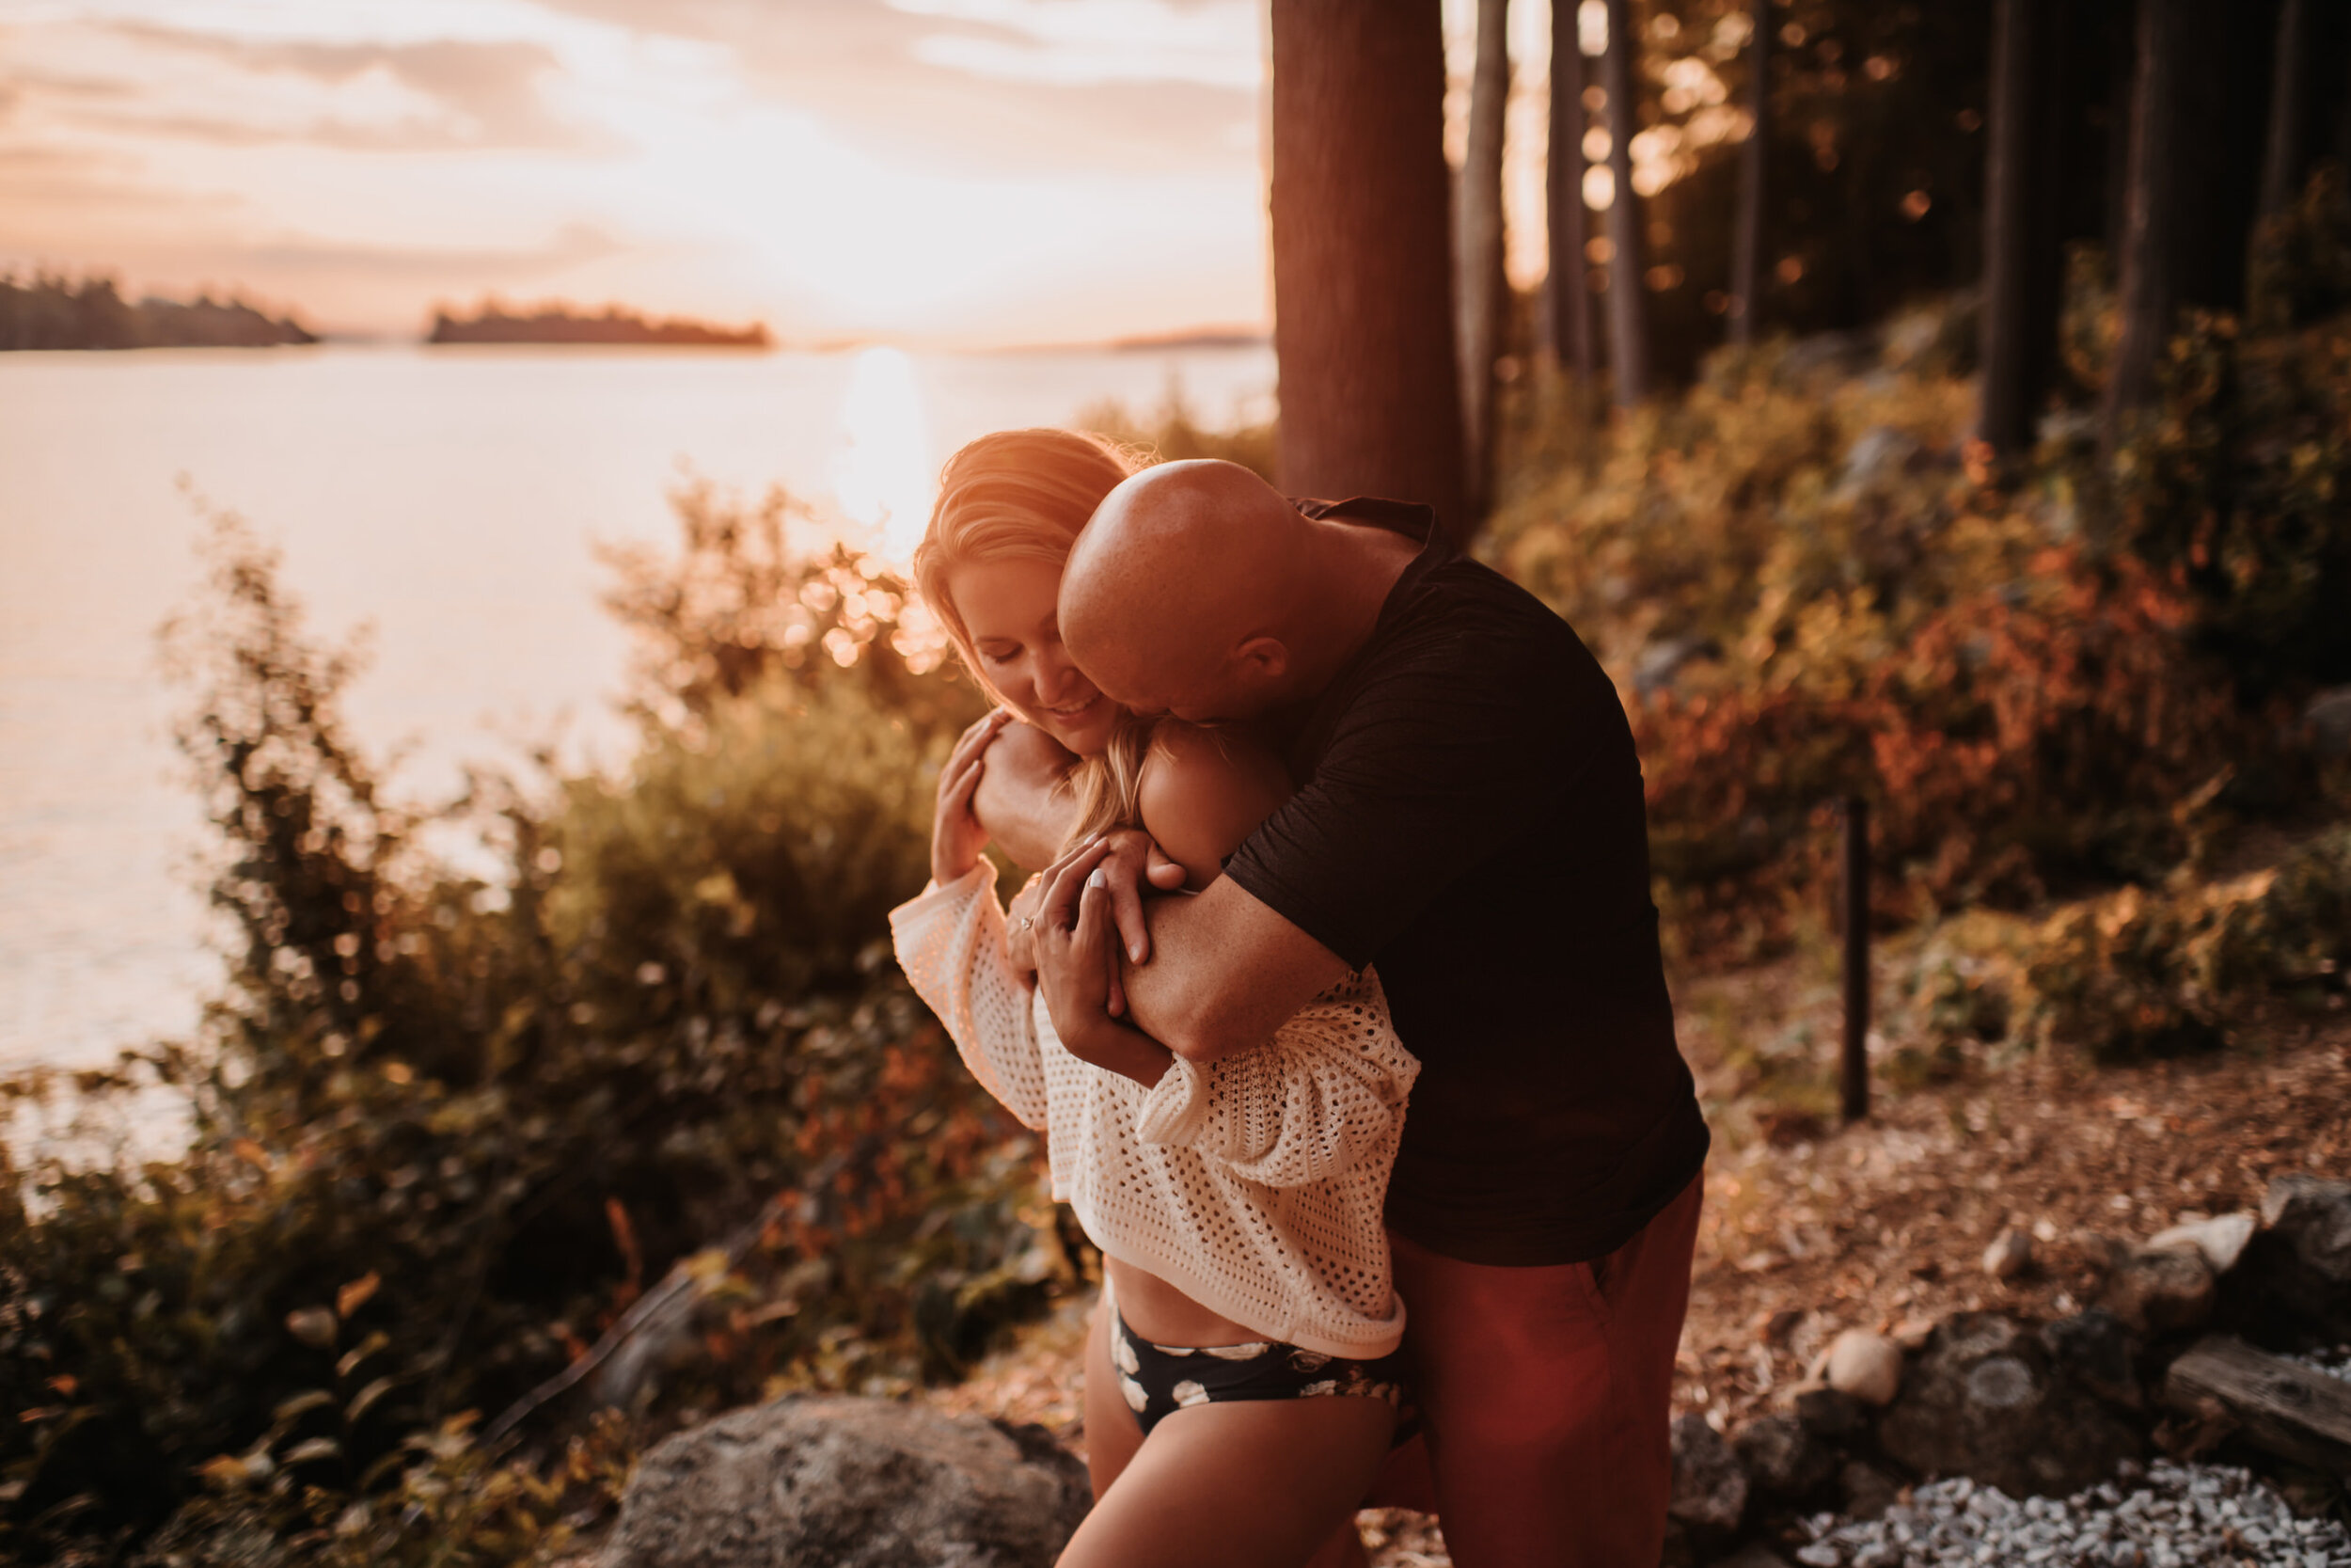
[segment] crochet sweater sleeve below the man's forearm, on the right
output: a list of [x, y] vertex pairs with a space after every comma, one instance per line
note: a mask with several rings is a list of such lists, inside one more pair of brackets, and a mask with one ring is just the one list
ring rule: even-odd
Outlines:
[[1373, 971], [1347, 976], [1270, 1041], [1206, 1067], [1176, 1058], [1136, 1119], [1143, 1143], [1199, 1152], [1267, 1187], [1302, 1187], [1394, 1150], [1420, 1063]]

